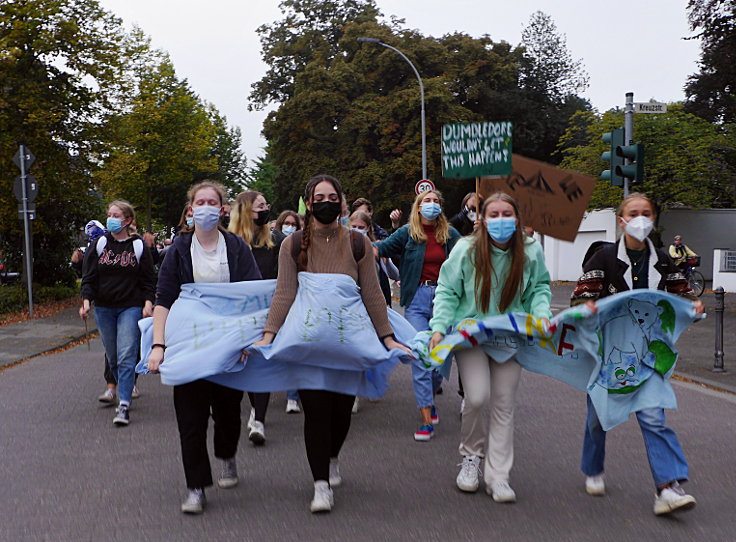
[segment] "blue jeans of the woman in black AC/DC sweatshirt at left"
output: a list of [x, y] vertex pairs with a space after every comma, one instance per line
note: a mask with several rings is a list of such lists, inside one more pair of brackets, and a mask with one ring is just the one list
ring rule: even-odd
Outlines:
[[135, 365], [140, 350], [138, 320], [141, 307], [95, 307], [95, 320], [105, 346], [107, 362], [118, 383], [121, 403], [130, 404], [135, 384]]

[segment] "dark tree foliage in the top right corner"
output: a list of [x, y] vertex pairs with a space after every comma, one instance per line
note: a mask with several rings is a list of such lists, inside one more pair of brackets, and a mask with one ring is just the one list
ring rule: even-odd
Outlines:
[[736, 0], [690, 0], [690, 29], [701, 39], [700, 72], [685, 86], [686, 110], [736, 123]]

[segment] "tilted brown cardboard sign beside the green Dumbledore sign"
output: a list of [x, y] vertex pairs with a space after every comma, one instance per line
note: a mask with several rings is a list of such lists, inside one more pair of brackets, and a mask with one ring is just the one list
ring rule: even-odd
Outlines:
[[508, 177], [482, 178], [480, 194], [486, 197], [506, 192], [519, 203], [525, 226], [563, 241], [574, 241], [596, 179], [518, 154], [513, 155], [512, 162]]

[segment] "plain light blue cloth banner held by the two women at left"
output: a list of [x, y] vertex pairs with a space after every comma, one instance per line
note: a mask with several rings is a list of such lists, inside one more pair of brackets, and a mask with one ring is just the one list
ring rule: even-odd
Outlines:
[[[296, 299], [274, 342], [249, 348], [246, 362], [239, 363], [241, 350], [263, 335], [275, 285], [263, 280], [182, 286], [166, 323], [161, 381], [177, 385], [207, 378], [254, 392], [324, 389], [381, 397], [391, 370], [407, 356], [383, 346], [360, 289], [347, 275], [300, 273]], [[140, 373], [148, 372], [152, 320], [139, 323]], [[390, 309], [389, 320], [397, 340], [408, 344], [414, 328]]]

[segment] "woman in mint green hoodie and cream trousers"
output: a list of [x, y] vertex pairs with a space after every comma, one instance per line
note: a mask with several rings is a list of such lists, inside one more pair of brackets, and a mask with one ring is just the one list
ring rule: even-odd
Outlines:
[[[447, 330], [466, 318], [483, 319], [526, 312], [549, 319], [549, 273], [539, 243], [524, 235], [519, 207], [498, 192], [481, 207], [481, 225], [460, 240], [442, 266], [430, 321], [434, 348]], [[514, 462], [514, 396], [521, 366], [514, 359], [497, 363], [482, 348], [455, 354], [465, 385], [465, 411], [460, 428], [463, 456], [457, 486], [478, 489], [481, 458], [486, 493], [496, 502], [514, 502], [509, 485]], [[490, 403], [490, 422], [486, 413]]]

